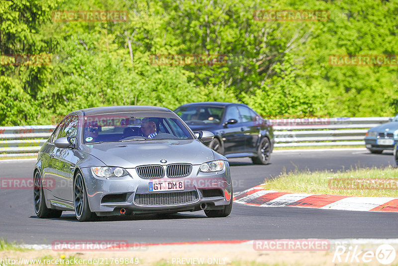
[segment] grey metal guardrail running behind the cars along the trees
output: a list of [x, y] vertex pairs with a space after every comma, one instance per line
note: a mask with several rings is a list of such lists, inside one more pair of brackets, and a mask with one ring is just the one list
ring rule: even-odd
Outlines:
[[[275, 146], [364, 145], [368, 129], [391, 117], [271, 119]], [[0, 157], [37, 155], [55, 126], [0, 127]]]

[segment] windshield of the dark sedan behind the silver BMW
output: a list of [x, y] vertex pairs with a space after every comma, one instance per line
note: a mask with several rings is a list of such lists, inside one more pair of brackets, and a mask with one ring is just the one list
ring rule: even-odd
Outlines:
[[214, 106], [187, 106], [174, 111], [189, 124], [219, 124], [224, 113], [224, 108]]

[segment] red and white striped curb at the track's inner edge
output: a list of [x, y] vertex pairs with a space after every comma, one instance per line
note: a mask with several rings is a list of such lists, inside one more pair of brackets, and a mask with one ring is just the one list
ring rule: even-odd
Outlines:
[[234, 203], [260, 207], [304, 207], [344, 211], [398, 212], [398, 198], [298, 194], [265, 190], [261, 185], [236, 193], [233, 199]]

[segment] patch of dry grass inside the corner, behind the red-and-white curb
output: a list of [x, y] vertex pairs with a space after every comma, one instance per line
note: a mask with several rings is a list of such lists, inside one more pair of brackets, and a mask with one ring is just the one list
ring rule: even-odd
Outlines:
[[[329, 188], [329, 180], [338, 178], [347, 182], [333, 182], [339, 188], [347, 188], [348, 182], [353, 179], [362, 178], [377, 178], [382, 179], [398, 179], [398, 168], [389, 166], [386, 168], [353, 168], [350, 170], [343, 170], [333, 172], [332, 170], [325, 171], [293, 171], [282, 172], [279, 176], [273, 179], [266, 179], [263, 188], [267, 190], [276, 190], [281, 192], [295, 192], [295, 193], [310, 193], [310, 194], [329, 194], [329, 195], [344, 195], [344, 196], [360, 196], [360, 197], [398, 197], [398, 189], [375, 189], [380, 186], [369, 186], [370, 189], [331, 189]], [[333, 180], [334, 181], [334, 180]], [[397, 182], [397, 181], [396, 181]], [[368, 183], [369, 184], [369, 183]]]

